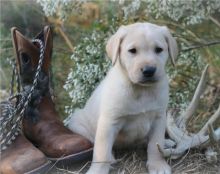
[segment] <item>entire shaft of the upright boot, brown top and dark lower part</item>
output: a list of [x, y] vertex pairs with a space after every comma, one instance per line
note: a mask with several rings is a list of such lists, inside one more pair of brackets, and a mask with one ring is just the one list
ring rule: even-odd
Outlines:
[[[29, 94], [40, 59], [40, 45], [23, 36], [16, 28], [12, 28], [11, 32], [21, 86], [23, 92]], [[40, 119], [39, 105], [42, 103], [42, 99], [46, 97], [51, 101], [49, 68], [53, 43], [50, 27], [44, 27], [34, 39], [42, 41], [44, 45], [44, 57], [42, 68], [37, 78], [37, 86], [32, 93], [31, 100], [24, 114], [24, 119], [32, 123], [36, 123]]]

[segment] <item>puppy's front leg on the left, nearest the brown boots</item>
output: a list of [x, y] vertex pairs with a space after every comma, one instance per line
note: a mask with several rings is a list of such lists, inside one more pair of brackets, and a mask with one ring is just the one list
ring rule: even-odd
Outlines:
[[96, 131], [92, 165], [86, 174], [108, 174], [113, 162], [112, 146], [120, 125], [109, 117], [100, 117]]

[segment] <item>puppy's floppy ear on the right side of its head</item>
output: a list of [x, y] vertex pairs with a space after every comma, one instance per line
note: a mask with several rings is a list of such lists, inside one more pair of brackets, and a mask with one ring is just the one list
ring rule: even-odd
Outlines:
[[171, 35], [169, 29], [166, 26], [162, 27], [162, 29], [163, 29], [165, 39], [167, 41], [168, 51], [169, 51], [172, 64], [173, 66], [175, 66], [175, 60], [178, 56], [178, 46], [177, 46], [176, 40]]

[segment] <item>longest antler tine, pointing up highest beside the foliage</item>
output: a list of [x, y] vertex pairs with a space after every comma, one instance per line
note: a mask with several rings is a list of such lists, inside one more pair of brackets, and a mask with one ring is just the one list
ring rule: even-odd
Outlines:
[[177, 125], [180, 128], [185, 129], [186, 121], [194, 114], [195, 110], [198, 107], [199, 98], [205, 89], [205, 82], [207, 79], [208, 67], [209, 67], [209, 65], [206, 65], [203, 72], [202, 72], [202, 76], [200, 78], [199, 84], [196, 88], [196, 91], [194, 93], [192, 101], [190, 102], [186, 111], [184, 113], [182, 113], [181, 116], [177, 120]]

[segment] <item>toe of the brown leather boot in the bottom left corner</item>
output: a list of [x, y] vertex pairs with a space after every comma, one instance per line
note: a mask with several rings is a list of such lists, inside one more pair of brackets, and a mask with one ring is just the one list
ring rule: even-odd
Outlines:
[[23, 135], [18, 135], [0, 157], [1, 174], [37, 174], [50, 167], [45, 155]]

